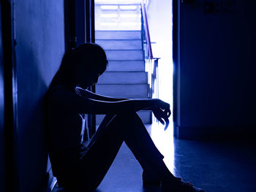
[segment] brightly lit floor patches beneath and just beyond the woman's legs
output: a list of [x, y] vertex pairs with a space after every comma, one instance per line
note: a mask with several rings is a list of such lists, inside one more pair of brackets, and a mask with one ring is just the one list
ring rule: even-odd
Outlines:
[[[168, 169], [178, 177], [174, 166], [172, 123], [166, 131], [164, 131], [165, 126], [157, 122], [146, 125], [146, 128], [157, 148], [165, 156], [164, 161]], [[104, 180], [99, 185], [97, 192], [159, 192], [159, 188], [143, 188], [142, 172], [143, 169], [140, 164], [124, 143]]]

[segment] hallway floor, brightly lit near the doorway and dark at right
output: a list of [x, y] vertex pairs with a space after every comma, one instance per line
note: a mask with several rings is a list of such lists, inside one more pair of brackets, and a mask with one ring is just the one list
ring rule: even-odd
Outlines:
[[[238, 142], [206, 142], [172, 139], [172, 128], [148, 126], [165, 163], [173, 174], [206, 192], [255, 192], [255, 145]], [[171, 138], [171, 139], [170, 139]], [[98, 192], [157, 192], [143, 188], [142, 169], [124, 144]]]

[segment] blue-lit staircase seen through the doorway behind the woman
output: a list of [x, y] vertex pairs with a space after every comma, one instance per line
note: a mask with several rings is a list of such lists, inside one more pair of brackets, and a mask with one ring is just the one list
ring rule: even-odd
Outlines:
[[[140, 27], [138, 27], [141, 26], [140, 4], [115, 4], [111, 6], [116, 6], [116, 9], [107, 9], [107, 11], [106, 9], [102, 10], [100, 6], [98, 4], [98, 7], [97, 5], [95, 7], [98, 14], [95, 42], [105, 50], [109, 64], [107, 71], [99, 77], [96, 93], [119, 98], [148, 99], [148, 74], [145, 72], [143, 40]], [[133, 6], [132, 10], [129, 9], [131, 6]], [[104, 14], [105, 18], [100, 18], [100, 14]], [[118, 16], [111, 18], [108, 14]], [[121, 25], [125, 20], [122, 20], [120, 15], [129, 14], [132, 14], [132, 16], [123, 16], [122, 18], [132, 18], [132, 21], [129, 21], [133, 23], [133, 26], [132, 24]], [[100, 26], [102, 23], [105, 24]], [[106, 23], [112, 24], [108, 25]], [[116, 23], [116, 25], [113, 25], [113, 23]], [[138, 115], [143, 123], [151, 123], [150, 111], [140, 111]], [[97, 125], [103, 118], [104, 115], [97, 115]]]

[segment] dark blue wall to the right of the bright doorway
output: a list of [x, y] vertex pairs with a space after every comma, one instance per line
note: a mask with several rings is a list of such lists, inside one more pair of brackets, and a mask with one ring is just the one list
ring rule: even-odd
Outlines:
[[[221, 12], [195, 0], [179, 4], [180, 96], [176, 136], [192, 138], [245, 133], [256, 127], [256, 1], [228, 1]], [[227, 2], [227, 1], [226, 1]]]

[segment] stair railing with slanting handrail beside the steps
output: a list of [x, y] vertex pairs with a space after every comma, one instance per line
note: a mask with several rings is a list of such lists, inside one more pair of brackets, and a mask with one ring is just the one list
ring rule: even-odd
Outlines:
[[145, 71], [148, 72], [148, 84], [149, 84], [149, 98], [159, 98], [159, 72], [158, 72], [158, 60], [154, 58], [151, 47], [151, 39], [148, 29], [148, 17], [146, 14], [146, 4], [144, 0], [141, 0], [141, 33], [143, 39], [143, 53], [145, 60]]

